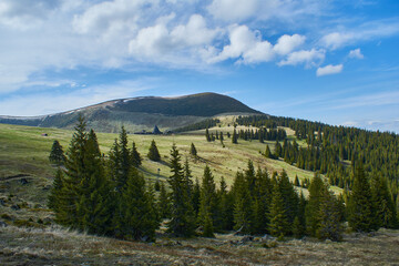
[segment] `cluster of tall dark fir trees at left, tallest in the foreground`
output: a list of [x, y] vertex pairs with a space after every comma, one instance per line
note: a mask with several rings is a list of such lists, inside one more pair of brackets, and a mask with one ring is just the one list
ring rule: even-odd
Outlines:
[[122, 127], [105, 160], [94, 131], [86, 133], [85, 126], [80, 117], [49, 196], [55, 221], [90, 234], [154, 239], [160, 219], [154, 193], [135, 166], [141, 163], [135, 145], [127, 147]]

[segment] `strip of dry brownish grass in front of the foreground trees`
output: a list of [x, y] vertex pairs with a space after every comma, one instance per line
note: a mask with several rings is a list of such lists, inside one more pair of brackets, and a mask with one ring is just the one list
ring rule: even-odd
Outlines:
[[399, 232], [342, 242], [275, 242], [233, 235], [125, 242], [60, 227], [0, 227], [0, 265], [399, 265]]

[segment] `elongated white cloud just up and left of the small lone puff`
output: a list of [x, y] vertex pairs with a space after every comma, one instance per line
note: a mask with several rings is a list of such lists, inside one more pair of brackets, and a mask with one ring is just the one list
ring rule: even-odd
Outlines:
[[287, 59], [280, 61], [278, 65], [297, 65], [304, 63], [306, 68], [316, 66], [324, 61], [325, 54], [325, 50], [316, 49], [291, 52]]

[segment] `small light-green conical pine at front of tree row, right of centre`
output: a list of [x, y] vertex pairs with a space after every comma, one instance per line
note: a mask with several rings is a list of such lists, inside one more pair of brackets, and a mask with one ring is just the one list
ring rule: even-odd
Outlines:
[[268, 229], [270, 235], [284, 237], [288, 234], [289, 224], [283, 202], [283, 196], [278, 188], [275, 188], [273, 193], [269, 221]]

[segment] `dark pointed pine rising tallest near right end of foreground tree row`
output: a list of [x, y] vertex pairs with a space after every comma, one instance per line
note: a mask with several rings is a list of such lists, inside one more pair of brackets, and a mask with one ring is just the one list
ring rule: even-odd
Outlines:
[[370, 184], [365, 170], [358, 165], [355, 170], [354, 185], [348, 203], [349, 226], [356, 232], [370, 232], [375, 227], [376, 212], [374, 209]]

